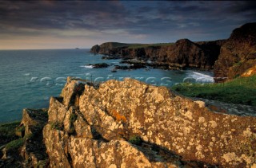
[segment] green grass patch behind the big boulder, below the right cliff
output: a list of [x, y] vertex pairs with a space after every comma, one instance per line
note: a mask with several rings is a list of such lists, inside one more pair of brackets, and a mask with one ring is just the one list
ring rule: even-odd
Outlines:
[[256, 107], [256, 76], [238, 77], [222, 84], [178, 84], [172, 88], [184, 96]]

